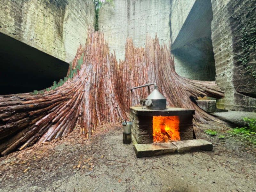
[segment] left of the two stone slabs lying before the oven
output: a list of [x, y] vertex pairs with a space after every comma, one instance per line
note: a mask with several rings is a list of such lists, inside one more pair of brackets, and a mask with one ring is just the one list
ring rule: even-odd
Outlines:
[[177, 147], [172, 143], [135, 144], [137, 157], [150, 157], [177, 153]]

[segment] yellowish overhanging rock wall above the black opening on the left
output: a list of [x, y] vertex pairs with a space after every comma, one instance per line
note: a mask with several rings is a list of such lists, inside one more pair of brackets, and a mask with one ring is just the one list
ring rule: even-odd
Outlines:
[[70, 62], [94, 26], [94, 5], [84, 0], [2, 0], [0, 33]]

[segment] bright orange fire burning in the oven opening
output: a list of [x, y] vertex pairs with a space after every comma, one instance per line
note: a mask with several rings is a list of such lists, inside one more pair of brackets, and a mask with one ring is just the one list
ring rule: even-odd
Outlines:
[[179, 123], [179, 116], [153, 116], [153, 141], [180, 140]]

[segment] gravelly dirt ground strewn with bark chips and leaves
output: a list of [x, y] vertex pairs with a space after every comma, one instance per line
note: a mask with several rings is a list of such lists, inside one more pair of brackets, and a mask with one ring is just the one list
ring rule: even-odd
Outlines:
[[137, 158], [133, 145], [123, 144], [121, 124], [99, 127], [91, 140], [75, 130], [0, 157], [0, 191], [255, 191], [255, 148], [206, 135], [205, 129], [229, 129], [210, 123], [194, 129], [213, 151], [149, 158]]

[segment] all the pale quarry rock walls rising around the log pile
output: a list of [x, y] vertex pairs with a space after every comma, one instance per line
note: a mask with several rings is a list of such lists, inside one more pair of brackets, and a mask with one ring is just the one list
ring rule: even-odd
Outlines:
[[[256, 0], [113, 0], [99, 12], [116, 59], [126, 38], [171, 42], [180, 76], [216, 80], [225, 92], [218, 108], [256, 111]], [[2, 0], [0, 33], [62, 61], [73, 60], [94, 26], [92, 0]], [[216, 75], [216, 76], [215, 76]]]

